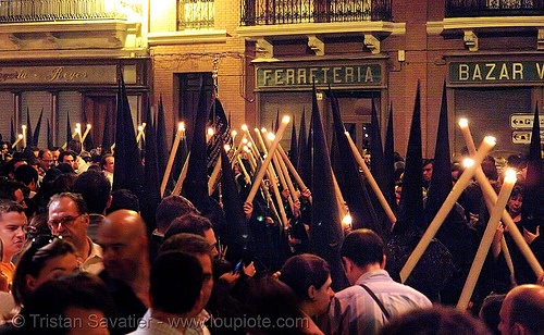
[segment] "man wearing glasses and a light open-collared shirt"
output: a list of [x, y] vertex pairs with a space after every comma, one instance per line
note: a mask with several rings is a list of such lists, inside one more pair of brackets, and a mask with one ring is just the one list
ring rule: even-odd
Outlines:
[[81, 195], [62, 193], [52, 196], [47, 224], [52, 235], [62, 236], [74, 245], [83, 271], [94, 274], [102, 271], [102, 250], [87, 236], [89, 214]]

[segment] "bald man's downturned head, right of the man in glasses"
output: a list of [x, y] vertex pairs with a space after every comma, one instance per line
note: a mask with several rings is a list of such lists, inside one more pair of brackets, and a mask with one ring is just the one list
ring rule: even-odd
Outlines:
[[146, 224], [141, 216], [129, 210], [110, 213], [100, 223], [98, 244], [103, 250], [103, 264], [108, 274], [132, 283], [148, 262]]

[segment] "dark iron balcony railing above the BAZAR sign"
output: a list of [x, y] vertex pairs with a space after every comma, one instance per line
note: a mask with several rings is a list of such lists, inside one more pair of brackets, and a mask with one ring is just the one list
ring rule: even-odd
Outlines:
[[446, 0], [446, 17], [544, 15], [544, 0]]

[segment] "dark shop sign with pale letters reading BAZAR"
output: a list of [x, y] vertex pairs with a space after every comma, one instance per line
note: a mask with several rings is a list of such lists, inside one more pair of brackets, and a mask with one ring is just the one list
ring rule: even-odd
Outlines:
[[450, 84], [544, 84], [544, 61], [450, 62]]

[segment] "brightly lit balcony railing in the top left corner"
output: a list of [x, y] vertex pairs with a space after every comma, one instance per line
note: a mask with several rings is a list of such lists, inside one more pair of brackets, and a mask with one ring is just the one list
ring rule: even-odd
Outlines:
[[111, 0], [0, 0], [0, 23], [126, 18], [120, 10]]

